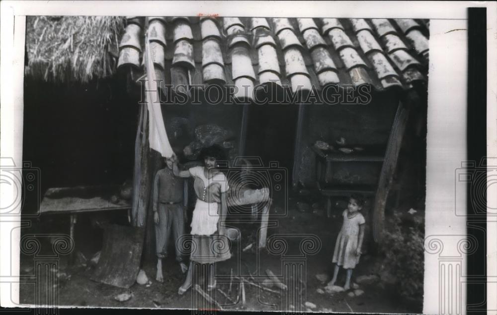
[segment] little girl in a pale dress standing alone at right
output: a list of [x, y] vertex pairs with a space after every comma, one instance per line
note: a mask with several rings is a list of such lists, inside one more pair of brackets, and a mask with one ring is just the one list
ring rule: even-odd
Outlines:
[[350, 289], [350, 277], [352, 269], [359, 262], [361, 255], [362, 240], [364, 239], [364, 217], [359, 212], [364, 205], [364, 200], [356, 195], [352, 195], [348, 201], [348, 207], [343, 211], [343, 225], [336, 238], [335, 250], [333, 252], [333, 262], [335, 269], [331, 284], [336, 282], [339, 267], [347, 270], [345, 280], [345, 290]]

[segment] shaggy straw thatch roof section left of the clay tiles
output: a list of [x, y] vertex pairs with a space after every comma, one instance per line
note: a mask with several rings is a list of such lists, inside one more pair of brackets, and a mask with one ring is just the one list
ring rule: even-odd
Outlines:
[[107, 77], [123, 29], [118, 16], [28, 16], [25, 74], [52, 82]]

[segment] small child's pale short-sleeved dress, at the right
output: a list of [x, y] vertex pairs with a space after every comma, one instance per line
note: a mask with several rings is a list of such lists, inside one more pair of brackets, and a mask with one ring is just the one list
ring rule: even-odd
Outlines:
[[336, 238], [333, 262], [344, 269], [353, 269], [359, 263], [359, 256], [356, 254], [359, 226], [364, 224], [366, 220], [359, 212], [356, 212], [356, 215], [349, 219], [347, 212], [345, 210], [342, 213], [343, 225]]

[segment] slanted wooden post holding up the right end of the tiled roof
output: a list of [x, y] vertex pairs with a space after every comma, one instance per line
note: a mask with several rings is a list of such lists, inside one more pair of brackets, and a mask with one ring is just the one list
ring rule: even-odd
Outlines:
[[385, 205], [388, 193], [392, 186], [392, 180], [397, 167], [397, 160], [402, 146], [404, 131], [409, 119], [409, 109], [399, 102], [397, 113], [395, 114], [390, 136], [388, 138], [385, 161], [380, 173], [378, 188], [376, 189], [375, 202], [373, 207], [373, 238], [376, 243], [381, 242], [383, 234], [383, 224], [385, 220]]

